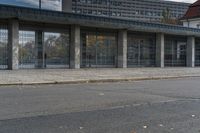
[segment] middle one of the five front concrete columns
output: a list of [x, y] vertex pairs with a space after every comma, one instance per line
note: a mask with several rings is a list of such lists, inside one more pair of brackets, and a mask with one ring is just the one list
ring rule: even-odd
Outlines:
[[127, 31], [118, 32], [118, 68], [127, 68]]

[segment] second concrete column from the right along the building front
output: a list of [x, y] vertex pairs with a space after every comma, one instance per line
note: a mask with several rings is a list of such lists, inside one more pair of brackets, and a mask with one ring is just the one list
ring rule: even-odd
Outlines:
[[165, 66], [165, 37], [163, 33], [156, 35], [156, 66]]

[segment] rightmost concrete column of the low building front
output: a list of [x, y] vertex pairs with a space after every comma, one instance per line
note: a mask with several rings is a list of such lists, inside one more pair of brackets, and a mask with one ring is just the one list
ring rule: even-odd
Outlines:
[[195, 67], [195, 38], [187, 38], [187, 67]]

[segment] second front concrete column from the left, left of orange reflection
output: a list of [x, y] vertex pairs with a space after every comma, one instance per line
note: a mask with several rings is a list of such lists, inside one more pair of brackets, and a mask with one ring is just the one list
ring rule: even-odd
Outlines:
[[80, 68], [80, 26], [71, 26], [70, 68]]

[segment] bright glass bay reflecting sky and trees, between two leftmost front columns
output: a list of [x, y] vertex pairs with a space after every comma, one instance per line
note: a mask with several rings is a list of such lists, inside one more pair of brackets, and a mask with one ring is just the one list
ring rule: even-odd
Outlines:
[[[34, 31], [19, 31], [19, 68], [68, 68], [69, 34], [44, 32], [39, 40], [43, 45], [36, 45]], [[40, 58], [38, 53], [40, 52]]]

